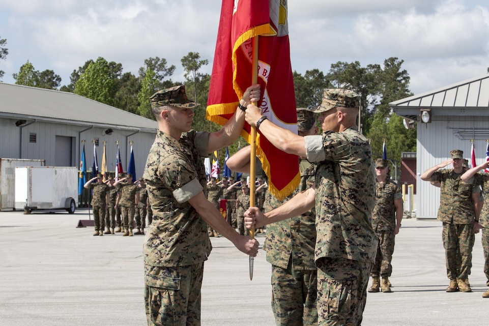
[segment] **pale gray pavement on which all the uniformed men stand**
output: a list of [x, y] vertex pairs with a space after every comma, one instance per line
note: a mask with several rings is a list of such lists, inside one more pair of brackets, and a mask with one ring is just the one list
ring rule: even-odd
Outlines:
[[[92, 236], [87, 210], [24, 215], [0, 212], [0, 325], [145, 325], [142, 244], [145, 236]], [[473, 250], [471, 293], [448, 286], [441, 222], [407, 219], [396, 236], [392, 293], [368, 293], [364, 326], [488, 324], [489, 299], [480, 233]], [[263, 244], [264, 234], [256, 238]], [[205, 263], [202, 325], [273, 326], [270, 264], [222, 238], [211, 238]]]

